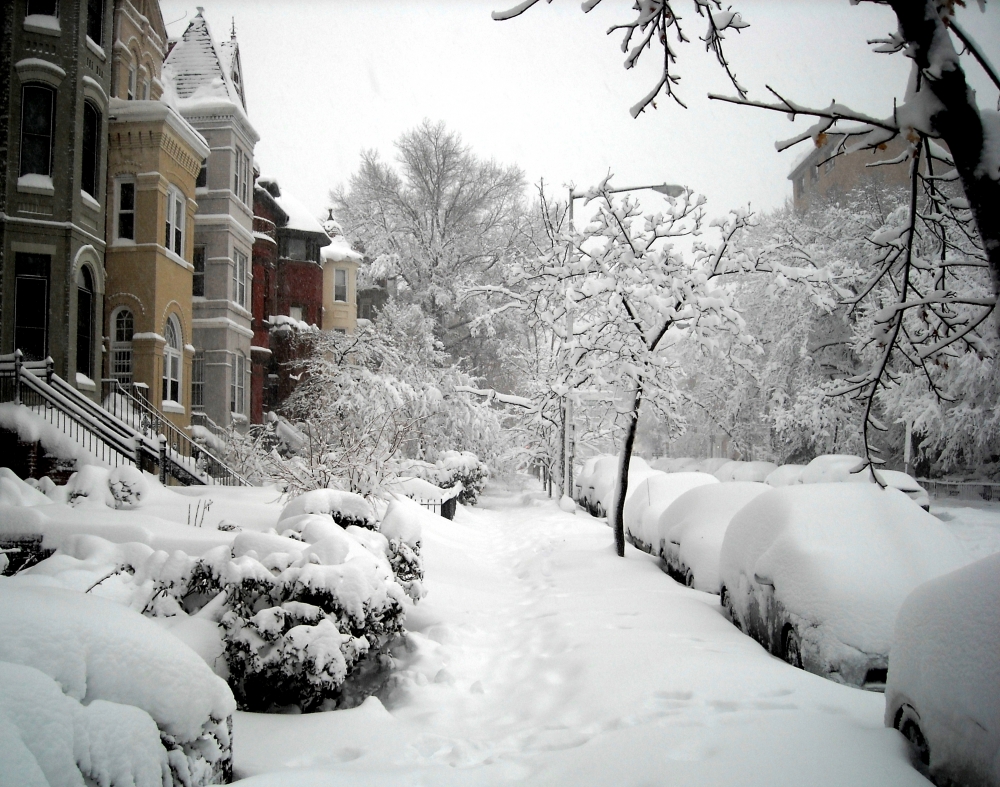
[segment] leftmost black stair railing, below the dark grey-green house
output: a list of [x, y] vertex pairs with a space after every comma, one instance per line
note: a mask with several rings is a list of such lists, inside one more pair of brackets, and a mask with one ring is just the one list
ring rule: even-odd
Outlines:
[[14, 402], [30, 411], [65, 434], [78, 446], [100, 461], [112, 466], [141, 466], [149, 456], [147, 446], [128, 434], [127, 429], [115, 428], [110, 419], [95, 418], [81, 411], [70, 399], [56, 391], [36, 372], [52, 374], [51, 359], [47, 361], [22, 361], [20, 351], [0, 355], [0, 401]]

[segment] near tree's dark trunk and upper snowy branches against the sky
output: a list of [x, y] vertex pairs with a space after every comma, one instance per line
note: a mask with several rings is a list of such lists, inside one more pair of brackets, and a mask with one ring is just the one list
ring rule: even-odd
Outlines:
[[[493, 18], [501, 21], [512, 19], [538, 2], [522, 0], [508, 10], [495, 11]], [[591, 11], [600, 2], [585, 0], [583, 10]], [[904, 95], [893, 98], [892, 112], [887, 117], [870, 117], [836, 102], [820, 108], [802, 106], [782, 97], [770, 87], [768, 90], [777, 101], [751, 101], [747, 89], [737, 81], [723, 48], [728, 31], [739, 32], [749, 25], [731, 6], [724, 8], [722, 0], [691, 0], [690, 6], [678, 0], [643, 0], [634, 4], [631, 18], [608, 30], [609, 33], [623, 34], [625, 68], [632, 68], [646, 52], [654, 49], [662, 52], [663, 65], [657, 82], [632, 107], [632, 116], [637, 117], [649, 106], [655, 108], [655, 100], [661, 94], [684, 106], [677, 92], [680, 83], [678, 48], [689, 43], [690, 39], [679, 11], [681, 6], [691, 7], [705, 24], [705, 32], [699, 39], [715, 55], [737, 93], [734, 97], [710, 95], [710, 98], [778, 111], [791, 120], [799, 115], [818, 119], [805, 133], [779, 142], [779, 150], [807, 139], [822, 144], [823, 135], [831, 130], [844, 134], [834, 155], [873, 150], [896, 137], [908, 140], [913, 150], [921, 147], [926, 139], [944, 142], [949, 160], [946, 171], [939, 174], [947, 173], [961, 183], [968, 210], [983, 240], [994, 294], [1000, 292], [1000, 223], [995, 219], [1000, 213], [1000, 114], [979, 109], [976, 93], [966, 80], [959, 53], [971, 55], [977, 67], [997, 88], [1000, 88], [1000, 73], [968, 31], [958, 24], [958, 7], [965, 3], [956, 3], [955, 0], [854, 2], [890, 6], [896, 14], [897, 30], [870, 43], [877, 53], [902, 52], [913, 61]], [[986, 0], [978, 0], [978, 5], [981, 11], [985, 11]], [[853, 125], [845, 128], [845, 123]]]

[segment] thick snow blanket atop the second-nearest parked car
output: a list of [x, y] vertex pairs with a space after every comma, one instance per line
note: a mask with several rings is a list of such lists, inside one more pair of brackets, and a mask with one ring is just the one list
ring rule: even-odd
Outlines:
[[[954, 535], [902, 492], [876, 484], [809, 484], [751, 500], [726, 531], [727, 588], [773, 583], [807, 625], [866, 653], [887, 653], [896, 613], [918, 585], [969, 562]], [[733, 594], [734, 604], [741, 599]]]

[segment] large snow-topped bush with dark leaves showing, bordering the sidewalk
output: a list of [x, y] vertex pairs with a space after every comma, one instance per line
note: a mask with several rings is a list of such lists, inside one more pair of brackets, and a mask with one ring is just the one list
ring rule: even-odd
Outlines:
[[175, 553], [137, 572], [157, 576], [146, 611], [192, 614], [218, 604], [229, 683], [245, 710], [356, 704], [384, 678], [387, 646], [402, 631], [404, 591], [389, 544], [329, 516], [286, 522], [321, 537], [242, 532], [231, 548], [201, 558]]

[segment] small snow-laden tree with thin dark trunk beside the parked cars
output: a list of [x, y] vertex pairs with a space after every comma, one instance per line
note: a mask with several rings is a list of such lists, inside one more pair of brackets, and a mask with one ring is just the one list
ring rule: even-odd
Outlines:
[[[679, 402], [678, 367], [671, 350], [691, 342], [715, 350], [724, 335], [752, 343], [733, 307], [724, 277], [768, 271], [787, 280], [819, 282], [825, 272], [787, 266], [763, 256], [734, 253], [733, 239], [750, 221], [748, 211], [711, 223], [717, 242], [706, 240], [704, 198], [691, 193], [665, 212], [644, 216], [628, 197], [612, 198], [607, 181], [590, 194], [597, 208], [581, 232], [554, 237], [551, 249], [527, 258], [502, 286], [477, 292], [504, 302], [559, 341], [557, 393], [617, 392], [625, 402], [623, 445], [611, 513], [615, 543], [624, 554], [622, 514], [636, 427], [644, 402], [668, 418]], [[678, 241], [690, 243], [683, 253]]]

